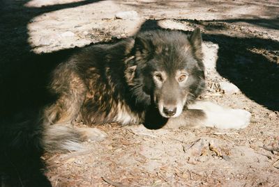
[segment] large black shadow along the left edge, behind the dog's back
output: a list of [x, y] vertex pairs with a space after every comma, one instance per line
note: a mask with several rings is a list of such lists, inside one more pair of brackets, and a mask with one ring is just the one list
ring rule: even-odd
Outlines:
[[[13, 145], [17, 136], [21, 135], [10, 134], [13, 137], [8, 140], [3, 137], [6, 136], [6, 129], [14, 129], [11, 124], [17, 120], [15, 113], [27, 111], [30, 115], [33, 111], [31, 108], [38, 108], [51, 99], [45, 94], [48, 74], [74, 50], [66, 49], [42, 56], [31, 53], [27, 42], [27, 25], [32, 22], [33, 17], [43, 13], [83, 6], [98, 0], [40, 8], [25, 7], [27, 2], [3, 0], [0, 7], [0, 186], [8, 187], [51, 186], [43, 174], [40, 149], [10, 149], [9, 145]], [[20, 117], [20, 120], [27, 120], [26, 118]]]

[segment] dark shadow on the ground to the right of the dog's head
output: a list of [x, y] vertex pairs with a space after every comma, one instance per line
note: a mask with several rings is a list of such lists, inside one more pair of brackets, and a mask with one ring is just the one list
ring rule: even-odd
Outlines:
[[272, 111], [279, 111], [279, 65], [251, 49], [278, 51], [279, 42], [261, 38], [233, 38], [204, 35], [219, 45], [216, 68], [250, 99]]

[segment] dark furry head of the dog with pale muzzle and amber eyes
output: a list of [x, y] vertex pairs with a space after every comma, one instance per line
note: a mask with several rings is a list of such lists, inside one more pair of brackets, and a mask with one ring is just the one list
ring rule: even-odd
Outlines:
[[177, 117], [204, 88], [202, 36], [151, 31], [135, 38], [135, 59], [126, 79], [140, 102], [155, 104], [163, 117]]

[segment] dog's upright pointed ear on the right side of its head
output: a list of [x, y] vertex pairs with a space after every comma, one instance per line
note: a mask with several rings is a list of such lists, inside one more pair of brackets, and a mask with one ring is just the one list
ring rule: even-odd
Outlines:
[[202, 58], [202, 34], [200, 29], [196, 28], [188, 39], [195, 51], [195, 56], [197, 58]]

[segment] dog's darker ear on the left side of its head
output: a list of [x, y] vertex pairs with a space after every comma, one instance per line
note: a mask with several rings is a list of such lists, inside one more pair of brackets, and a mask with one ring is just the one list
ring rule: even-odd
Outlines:
[[153, 43], [150, 39], [151, 33], [137, 35], [135, 38], [135, 55], [141, 58], [148, 58], [153, 51]]

